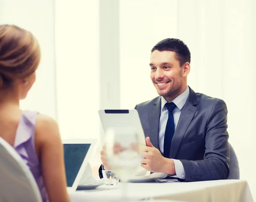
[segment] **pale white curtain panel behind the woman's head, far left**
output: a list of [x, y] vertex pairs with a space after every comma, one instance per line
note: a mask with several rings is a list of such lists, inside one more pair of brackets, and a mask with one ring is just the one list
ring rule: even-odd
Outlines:
[[41, 46], [35, 85], [20, 107], [56, 118], [52, 0], [0, 0], [0, 24], [15, 24], [31, 31]]

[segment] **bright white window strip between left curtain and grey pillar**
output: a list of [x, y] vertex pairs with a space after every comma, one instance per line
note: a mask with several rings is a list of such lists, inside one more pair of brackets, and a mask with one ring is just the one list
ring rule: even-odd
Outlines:
[[[98, 1], [55, 0], [55, 46], [61, 137], [99, 139]], [[97, 151], [91, 160], [99, 166]]]

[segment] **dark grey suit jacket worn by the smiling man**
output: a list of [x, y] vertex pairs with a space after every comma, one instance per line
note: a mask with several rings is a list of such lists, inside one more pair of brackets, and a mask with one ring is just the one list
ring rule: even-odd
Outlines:
[[[136, 105], [145, 137], [158, 145], [161, 97]], [[184, 181], [227, 179], [229, 143], [227, 106], [223, 100], [195, 93], [183, 106], [171, 143], [169, 158], [179, 159], [184, 167]], [[181, 180], [182, 181], [182, 180]]]

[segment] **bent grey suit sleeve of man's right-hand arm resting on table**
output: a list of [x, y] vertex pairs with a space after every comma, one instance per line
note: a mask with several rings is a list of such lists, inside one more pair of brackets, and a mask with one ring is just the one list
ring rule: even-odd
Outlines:
[[204, 159], [180, 160], [186, 182], [227, 179], [230, 159], [228, 137], [227, 106], [223, 100], [217, 100], [207, 120]]

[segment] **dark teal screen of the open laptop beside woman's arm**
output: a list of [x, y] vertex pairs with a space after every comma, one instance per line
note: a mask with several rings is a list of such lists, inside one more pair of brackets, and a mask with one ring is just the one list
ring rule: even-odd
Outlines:
[[72, 187], [91, 144], [63, 144], [67, 187]]

